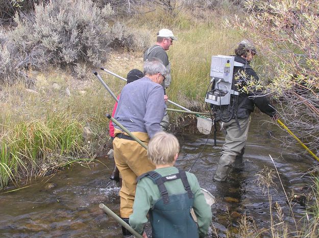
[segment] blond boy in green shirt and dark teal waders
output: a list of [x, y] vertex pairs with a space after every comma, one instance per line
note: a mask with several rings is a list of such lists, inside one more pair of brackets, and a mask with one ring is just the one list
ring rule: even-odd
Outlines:
[[[179, 153], [174, 135], [159, 132], [148, 146], [149, 160], [156, 169], [137, 178], [133, 214], [130, 225], [143, 237], [143, 225], [149, 213], [152, 237], [204, 237], [212, 220], [210, 206], [194, 174], [174, 167]], [[190, 214], [194, 209], [196, 224]]]

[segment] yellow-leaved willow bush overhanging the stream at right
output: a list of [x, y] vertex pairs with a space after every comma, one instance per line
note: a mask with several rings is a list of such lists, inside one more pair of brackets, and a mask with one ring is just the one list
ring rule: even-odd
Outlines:
[[[319, 14], [316, 1], [250, 0], [235, 25], [262, 55], [259, 73], [279, 99], [281, 120], [319, 155]], [[290, 136], [287, 138], [291, 138]], [[291, 138], [292, 139], [292, 138]]]

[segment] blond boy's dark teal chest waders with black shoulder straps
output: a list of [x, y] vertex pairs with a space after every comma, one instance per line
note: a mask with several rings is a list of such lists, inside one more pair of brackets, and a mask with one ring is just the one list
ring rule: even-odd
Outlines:
[[[152, 224], [153, 238], [198, 238], [198, 227], [190, 214], [193, 206], [194, 195], [183, 170], [179, 173], [162, 177], [155, 171], [142, 174], [138, 179], [149, 177], [157, 184], [161, 198], [149, 211]], [[184, 189], [183, 194], [168, 195], [165, 182], [181, 179]]]

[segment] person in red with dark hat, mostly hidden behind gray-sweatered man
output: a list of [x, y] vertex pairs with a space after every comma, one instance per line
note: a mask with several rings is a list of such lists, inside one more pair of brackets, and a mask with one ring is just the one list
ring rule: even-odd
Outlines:
[[[135, 80], [139, 80], [143, 76], [144, 76], [144, 74], [142, 71], [140, 71], [138, 69], [132, 69], [130, 72], [128, 72], [127, 84], [132, 83]], [[119, 99], [119, 95], [117, 96], [117, 100], [118, 99]], [[114, 117], [114, 115], [115, 115], [116, 107], [117, 107], [117, 102], [115, 102], [115, 104], [114, 104], [112, 117]], [[113, 139], [114, 139], [114, 124], [111, 120], [109, 123], [109, 134], [110, 134], [111, 140], [113, 141]], [[114, 169], [110, 175], [110, 179], [115, 180], [117, 182], [119, 181], [119, 171], [118, 171], [116, 165], [114, 165]]]

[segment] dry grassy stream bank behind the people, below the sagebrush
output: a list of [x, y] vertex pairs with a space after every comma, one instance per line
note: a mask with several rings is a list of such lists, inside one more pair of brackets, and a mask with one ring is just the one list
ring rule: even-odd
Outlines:
[[[231, 17], [227, 11], [201, 12], [200, 18], [196, 14], [176, 11], [174, 16], [166, 15], [163, 20], [163, 10], [157, 9], [155, 13], [139, 14], [123, 21], [132, 31], [142, 31], [143, 35], [149, 32], [149, 44], [155, 42], [156, 32], [161, 28], [169, 28], [177, 35], [179, 40], [168, 51], [173, 83], [167, 94], [170, 100], [187, 108], [203, 109], [210, 80], [210, 57], [231, 54], [240, 37], [232, 29], [223, 28], [223, 18]], [[218, 17], [220, 14], [223, 17]], [[103, 67], [126, 77], [130, 69], [142, 69], [142, 54], [142, 51], [114, 52]], [[125, 85], [99, 69], [86, 68], [86, 74], [79, 80], [75, 78], [79, 75], [52, 68], [45, 72], [32, 69], [26, 72], [36, 82], [29, 89], [22, 84], [2, 89], [0, 188], [10, 179], [45, 174], [41, 168], [63, 164], [69, 154], [86, 151], [84, 157], [90, 157], [94, 150], [109, 143], [105, 113], [112, 111], [114, 101], [91, 70], [97, 70], [115, 94]], [[181, 115], [171, 113], [170, 116], [176, 121]], [[82, 138], [85, 126], [93, 135], [89, 143]], [[71, 131], [74, 135], [68, 135]]]

